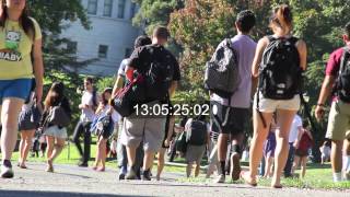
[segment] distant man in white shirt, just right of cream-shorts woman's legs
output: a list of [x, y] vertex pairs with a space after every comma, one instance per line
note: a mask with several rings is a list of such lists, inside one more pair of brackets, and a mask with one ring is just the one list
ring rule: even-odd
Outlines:
[[288, 160], [284, 166], [284, 177], [291, 177], [292, 176], [292, 166], [293, 166], [293, 161], [294, 161], [294, 142], [298, 140], [299, 134], [303, 129], [303, 121], [302, 118], [295, 114], [292, 126], [291, 126], [291, 131], [289, 134], [289, 153], [288, 153]]

